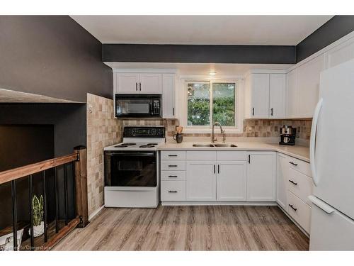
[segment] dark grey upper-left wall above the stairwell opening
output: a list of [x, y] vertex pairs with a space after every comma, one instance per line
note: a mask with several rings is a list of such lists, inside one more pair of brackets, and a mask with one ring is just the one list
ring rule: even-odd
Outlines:
[[0, 88], [86, 102], [112, 98], [101, 43], [69, 16], [0, 16]]

